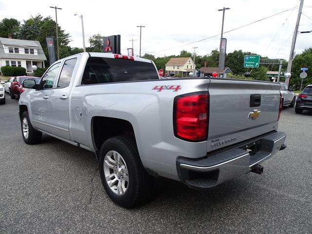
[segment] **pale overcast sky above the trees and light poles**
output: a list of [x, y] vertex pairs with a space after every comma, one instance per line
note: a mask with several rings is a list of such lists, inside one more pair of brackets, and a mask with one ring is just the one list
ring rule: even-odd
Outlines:
[[[134, 53], [139, 54], [139, 28], [142, 28], [141, 54], [155, 57], [178, 55], [181, 50], [196, 54], [210, 54], [219, 48], [223, 7], [224, 32], [278, 14], [266, 20], [224, 34], [227, 53], [250, 51], [272, 59], [289, 58], [292, 34], [298, 14], [299, 0], [0, 0], [0, 20], [28, 19], [41, 14], [55, 20], [71, 35], [70, 46], [82, 48], [81, 21], [83, 15], [86, 46], [94, 34], [121, 35], [121, 53], [127, 54], [134, 41]], [[296, 7], [296, 8], [294, 8]], [[304, 0], [303, 15], [298, 31], [312, 30], [312, 0]], [[217, 35], [217, 36], [215, 36]], [[215, 36], [210, 39], [205, 39]], [[200, 42], [195, 42], [197, 40]], [[195, 42], [195, 43], [192, 43]], [[295, 53], [312, 47], [312, 33], [298, 34]]]

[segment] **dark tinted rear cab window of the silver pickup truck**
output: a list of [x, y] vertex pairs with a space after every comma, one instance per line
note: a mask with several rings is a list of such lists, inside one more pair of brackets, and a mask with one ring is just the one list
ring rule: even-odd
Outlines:
[[149, 79], [158, 79], [155, 66], [151, 62], [91, 57], [87, 61], [81, 84]]

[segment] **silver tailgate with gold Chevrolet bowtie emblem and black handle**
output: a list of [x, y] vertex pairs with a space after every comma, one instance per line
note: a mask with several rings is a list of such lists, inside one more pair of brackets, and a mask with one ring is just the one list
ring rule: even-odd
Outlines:
[[211, 78], [207, 152], [277, 130], [279, 84]]

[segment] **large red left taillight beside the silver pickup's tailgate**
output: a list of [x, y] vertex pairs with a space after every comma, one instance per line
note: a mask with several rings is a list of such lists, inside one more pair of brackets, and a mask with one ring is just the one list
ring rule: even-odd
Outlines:
[[175, 98], [175, 135], [178, 138], [202, 141], [208, 135], [208, 94]]

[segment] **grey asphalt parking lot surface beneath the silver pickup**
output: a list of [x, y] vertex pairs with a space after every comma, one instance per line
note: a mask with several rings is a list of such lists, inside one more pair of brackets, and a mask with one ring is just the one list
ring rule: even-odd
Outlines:
[[312, 112], [282, 111], [288, 147], [264, 174], [198, 192], [158, 178], [136, 209], [106, 195], [94, 155], [44, 135], [26, 145], [18, 101], [0, 105], [0, 233], [312, 233]]

